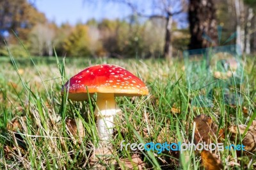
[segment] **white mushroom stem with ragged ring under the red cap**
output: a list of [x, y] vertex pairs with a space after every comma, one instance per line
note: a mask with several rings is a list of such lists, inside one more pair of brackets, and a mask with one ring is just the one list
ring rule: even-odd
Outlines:
[[114, 116], [120, 111], [116, 105], [114, 93], [98, 93], [95, 115], [97, 116], [97, 130], [100, 145], [111, 143], [114, 125]]

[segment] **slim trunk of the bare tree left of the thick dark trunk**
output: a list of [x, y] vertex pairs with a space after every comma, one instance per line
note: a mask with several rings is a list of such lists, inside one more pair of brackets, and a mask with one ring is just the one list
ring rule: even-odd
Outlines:
[[171, 59], [172, 58], [172, 15], [168, 15], [166, 17], [166, 30], [165, 30], [165, 38], [164, 38], [164, 58]]

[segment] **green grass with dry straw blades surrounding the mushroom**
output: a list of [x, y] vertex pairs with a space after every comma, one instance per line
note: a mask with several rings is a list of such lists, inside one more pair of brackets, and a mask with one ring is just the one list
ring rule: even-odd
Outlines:
[[[222, 143], [233, 144], [227, 128], [231, 125], [250, 125], [255, 118], [256, 72], [255, 58], [247, 58], [243, 68], [244, 81], [230, 79], [232, 104], [223, 99], [220, 82], [212, 91], [212, 107], [198, 95], [207, 95], [207, 87], [195, 89], [182, 70], [184, 63], [162, 59], [86, 59], [86, 58], [0, 58], [0, 169], [88, 169], [93, 148], [99, 137], [92, 100], [72, 102], [61, 96], [63, 84], [72, 75], [87, 66], [111, 63], [122, 66], [141, 77], [150, 95], [146, 97], [118, 97], [122, 113], [116, 116], [113, 135], [113, 158], [131, 158], [136, 152], [147, 163], [148, 169], [198, 169], [202, 168], [198, 151], [132, 151], [120, 150], [120, 143], [188, 143], [193, 141], [193, 119], [199, 114], [210, 116], [224, 129]], [[187, 68], [186, 68], [187, 69]], [[200, 69], [200, 68], [198, 68]], [[201, 71], [202, 72], [202, 71]], [[187, 72], [188, 73], [188, 72]], [[204, 80], [203, 80], [204, 81]], [[236, 83], [235, 83], [236, 82]], [[240, 94], [243, 102], [238, 102]], [[244, 114], [243, 107], [248, 110]], [[174, 112], [172, 109], [179, 109]], [[194, 109], [193, 109], [194, 108]], [[81, 143], [74, 143], [65, 127], [67, 118], [83, 123], [85, 135]], [[15, 127], [15, 125], [17, 125]], [[18, 127], [18, 128], [17, 128]], [[239, 135], [237, 144], [243, 134]], [[77, 139], [79, 140], [79, 139]], [[254, 153], [237, 155], [236, 151], [219, 151], [226, 169], [253, 168]], [[237, 163], [232, 166], [232, 163]], [[239, 166], [240, 165], [240, 166]], [[105, 165], [110, 168], [109, 165]]]

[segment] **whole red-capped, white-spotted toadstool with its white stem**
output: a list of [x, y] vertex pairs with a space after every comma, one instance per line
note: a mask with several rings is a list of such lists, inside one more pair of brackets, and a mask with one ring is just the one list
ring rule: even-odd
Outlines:
[[113, 119], [116, 112], [120, 111], [115, 97], [148, 95], [148, 88], [143, 81], [116, 65], [90, 66], [71, 77], [61, 93], [64, 89], [67, 90], [68, 98], [76, 101], [88, 99], [88, 93], [97, 93], [95, 116], [102, 144], [111, 139]]

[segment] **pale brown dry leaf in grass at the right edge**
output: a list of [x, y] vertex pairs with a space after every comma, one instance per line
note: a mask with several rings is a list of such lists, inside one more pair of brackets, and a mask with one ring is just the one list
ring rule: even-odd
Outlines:
[[[243, 135], [246, 129], [246, 125], [238, 125], [239, 131], [236, 126], [232, 126], [228, 128], [228, 131], [231, 132], [231, 140], [234, 141], [236, 135], [240, 134]], [[256, 150], [256, 121], [253, 120], [252, 125], [248, 128], [248, 132], [244, 136], [242, 141], [243, 145], [245, 146], [244, 149], [247, 151], [255, 151]]]

